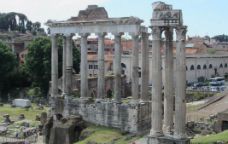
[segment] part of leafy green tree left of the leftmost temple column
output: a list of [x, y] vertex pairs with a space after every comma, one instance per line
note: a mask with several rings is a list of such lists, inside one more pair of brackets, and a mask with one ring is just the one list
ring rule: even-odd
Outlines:
[[48, 37], [39, 37], [28, 46], [25, 67], [32, 80], [33, 87], [40, 87], [42, 93], [48, 91], [51, 75], [51, 41]]

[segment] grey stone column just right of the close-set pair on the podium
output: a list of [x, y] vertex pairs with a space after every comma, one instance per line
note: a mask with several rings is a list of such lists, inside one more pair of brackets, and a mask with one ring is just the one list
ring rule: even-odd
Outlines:
[[81, 65], [80, 65], [80, 79], [81, 79], [81, 98], [88, 97], [88, 61], [87, 61], [87, 37], [88, 33], [81, 34]]

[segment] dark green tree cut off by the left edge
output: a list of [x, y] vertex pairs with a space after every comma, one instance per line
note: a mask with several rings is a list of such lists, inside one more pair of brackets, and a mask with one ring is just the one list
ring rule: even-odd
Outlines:
[[5, 98], [8, 90], [12, 85], [10, 80], [16, 71], [16, 56], [10, 48], [0, 41], [0, 97]]

